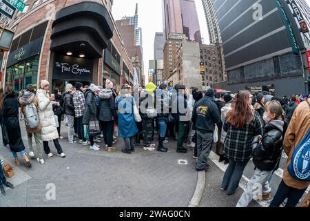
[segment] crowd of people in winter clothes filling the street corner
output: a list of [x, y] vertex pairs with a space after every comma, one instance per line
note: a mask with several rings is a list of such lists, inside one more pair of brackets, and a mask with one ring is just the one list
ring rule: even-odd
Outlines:
[[[282, 151], [288, 156], [287, 165], [270, 206], [280, 206], [285, 199], [285, 206], [296, 206], [310, 184], [309, 175], [302, 180], [290, 169], [296, 146], [309, 146], [310, 96], [278, 98], [269, 93], [267, 86], [262, 87], [262, 93], [251, 95], [248, 90], [240, 90], [234, 95], [216, 93], [213, 88], [199, 91], [180, 84], [157, 87], [152, 82], [145, 88], [126, 84], [116, 93], [109, 79], [105, 88], [94, 84], [83, 87], [77, 82], [74, 86], [67, 84], [63, 93], [55, 88], [50, 94], [46, 80], [40, 86], [35, 91], [28, 85], [20, 95], [11, 86], [6, 86], [5, 93], [0, 89], [3, 144], [12, 151], [17, 166], [20, 165], [17, 153], [28, 167], [32, 166], [29, 157], [44, 164], [43, 151], [48, 157], [54, 156], [50, 141], [54, 142], [57, 155], [64, 158], [59, 143], [63, 139], [63, 120], [68, 125], [68, 142], [90, 146], [92, 151], [101, 150], [102, 138], [105, 151], [117, 151], [118, 137], [123, 138], [124, 154], [132, 154], [141, 140], [144, 151], [167, 153], [165, 144], [176, 140], [177, 153], [187, 153], [192, 148], [196, 171], [209, 169], [209, 154], [216, 143], [219, 162], [228, 164], [220, 186], [227, 195], [236, 192], [245, 166], [252, 158], [254, 175], [238, 200], [240, 207], [248, 206], [258, 186], [262, 200], [272, 197], [269, 183], [279, 168]], [[28, 133], [29, 154], [21, 139], [19, 106]], [[92, 131], [94, 125], [96, 133]], [[156, 133], [158, 145], [154, 144]], [[302, 174], [310, 173], [309, 159], [308, 153]], [[0, 189], [5, 194], [3, 185], [14, 188], [1, 175]], [[308, 194], [302, 205], [308, 206], [309, 201]]]

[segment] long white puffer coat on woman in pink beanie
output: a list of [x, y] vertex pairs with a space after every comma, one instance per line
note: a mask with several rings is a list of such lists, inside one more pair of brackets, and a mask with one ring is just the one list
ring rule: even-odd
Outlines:
[[51, 141], [59, 138], [52, 102], [50, 102], [48, 93], [45, 90], [37, 91], [37, 99], [39, 103], [39, 119], [42, 126], [41, 137], [43, 141]]

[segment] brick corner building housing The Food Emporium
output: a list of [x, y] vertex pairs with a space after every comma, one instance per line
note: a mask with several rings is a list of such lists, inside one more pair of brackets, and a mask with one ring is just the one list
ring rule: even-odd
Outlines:
[[68, 83], [104, 85], [109, 78], [118, 89], [123, 66], [129, 75], [133, 66], [115, 28], [112, 3], [29, 1], [11, 21], [1, 21], [15, 32], [10, 52], [3, 55], [2, 86], [11, 84], [17, 91], [28, 84], [39, 88], [40, 81], [48, 79], [52, 88], [63, 91]]

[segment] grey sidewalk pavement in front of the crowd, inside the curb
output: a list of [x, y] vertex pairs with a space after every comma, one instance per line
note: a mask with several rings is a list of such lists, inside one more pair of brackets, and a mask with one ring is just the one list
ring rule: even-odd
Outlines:
[[[118, 140], [116, 153], [90, 150], [89, 146], [68, 144], [66, 126], [62, 125], [60, 140], [65, 159], [45, 158], [41, 165], [32, 160], [28, 169], [21, 160], [17, 168], [12, 154], [2, 144], [0, 157], [14, 166], [16, 175], [8, 179], [15, 189], [0, 195], [0, 206], [187, 206], [196, 188], [197, 173], [192, 152], [176, 153], [176, 142], [165, 144], [168, 153], [143, 151], [137, 146], [132, 155], [121, 153], [123, 140]], [[24, 123], [21, 130], [28, 146]], [[156, 136], [157, 137], [157, 136]], [[155, 141], [155, 144], [158, 144]], [[50, 142], [52, 153], [56, 153]], [[185, 160], [187, 164], [178, 164]], [[23, 175], [23, 176], [21, 176]], [[20, 183], [20, 184], [19, 184]], [[47, 200], [47, 184], [56, 187], [56, 200]]]

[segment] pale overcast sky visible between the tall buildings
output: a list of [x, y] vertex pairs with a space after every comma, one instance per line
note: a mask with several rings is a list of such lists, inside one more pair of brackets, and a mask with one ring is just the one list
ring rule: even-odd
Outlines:
[[[207, 33], [207, 22], [205, 20], [205, 12], [203, 11], [203, 3], [201, 0], [195, 1], [201, 37], [205, 39], [205, 44], [209, 44], [209, 35]], [[306, 1], [310, 5], [310, 0]], [[112, 15], [114, 19], [118, 20], [125, 15], [134, 15], [136, 3], [138, 3], [138, 26], [142, 28], [144, 74], [148, 75], [147, 69], [149, 66], [149, 60], [154, 59], [155, 32], [163, 32], [162, 0], [114, 0], [112, 7]]]

